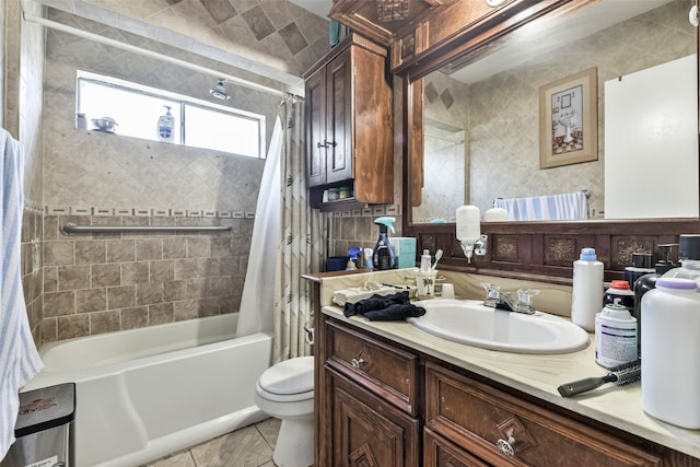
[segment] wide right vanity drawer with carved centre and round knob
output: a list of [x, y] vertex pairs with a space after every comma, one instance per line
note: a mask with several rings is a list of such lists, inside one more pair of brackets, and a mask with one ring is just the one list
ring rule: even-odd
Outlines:
[[621, 440], [432, 363], [425, 364], [425, 424], [498, 465], [661, 465]]

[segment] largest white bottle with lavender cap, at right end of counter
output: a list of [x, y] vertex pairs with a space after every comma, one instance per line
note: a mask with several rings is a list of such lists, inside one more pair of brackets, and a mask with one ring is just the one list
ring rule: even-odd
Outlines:
[[700, 294], [696, 282], [658, 278], [642, 296], [642, 408], [690, 430], [700, 429]]

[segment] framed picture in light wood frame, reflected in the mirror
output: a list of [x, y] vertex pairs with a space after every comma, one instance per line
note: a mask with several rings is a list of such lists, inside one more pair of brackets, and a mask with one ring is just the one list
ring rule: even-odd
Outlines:
[[539, 89], [539, 168], [598, 159], [597, 94], [595, 67]]

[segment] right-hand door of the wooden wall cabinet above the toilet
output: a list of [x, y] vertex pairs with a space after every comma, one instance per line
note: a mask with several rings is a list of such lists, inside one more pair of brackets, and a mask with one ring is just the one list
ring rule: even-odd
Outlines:
[[326, 66], [326, 180], [352, 178], [352, 47]]

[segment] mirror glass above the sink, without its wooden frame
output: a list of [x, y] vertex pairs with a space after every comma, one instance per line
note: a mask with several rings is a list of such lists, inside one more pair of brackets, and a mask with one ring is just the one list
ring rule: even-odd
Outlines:
[[[567, 19], [549, 21], [546, 30], [545, 19], [523, 26], [517, 46], [509, 43], [462, 69], [450, 63], [416, 81], [413, 85], [422, 86], [423, 159], [411, 162], [411, 173], [422, 188], [420, 192], [409, 188], [413, 191], [405, 197], [409, 223], [454, 222], [456, 208], [465, 203], [478, 206], [483, 214], [498, 198], [583, 190], [588, 194], [588, 219], [697, 217], [698, 85], [697, 59], [691, 57], [697, 52], [697, 30], [688, 21], [689, 9], [685, 0], [602, 0]], [[690, 115], [680, 119], [682, 127], [655, 117], [672, 127], [668, 135], [687, 137], [684, 149], [668, 150], [668, 141], [658, 137], [662, 129], [655, 127], [646, 135], [657, 139], [651, 155], [656, 163], [640, 163], [640, 151], [650, 143], [644, 141], [641, 148], [634, 143], [644, 135], [634, 137], [630, 129], [614, 124], [629, 120], [629, 114], [645, 115], [641, 104], [651, 101], [650, 93], [678, 85], [668, 84], [670, 78], [652, 78], [652, 84], [642, 86], [642, 94], [633, 98], [634, 106], [623, 104], [623, 118], [611, 114], [615, 105], [608, 94], [615, 91], [610, 86], [632, 82], [684, 57], [689, 57], [692, 77], [690, 91], [680, 100], [689, 104]], [[597, 160], [540, 168], [540, 87], [591, 68], [597, 75]], [[640, 128], [643, 122], [631, 125]], [[565, 138], [564, 126], [552, 126], [555, 136]], [[658, 164], [662, 151], [665, 163]], [[684, 161], [667, 162], [666, 157], [680, 153]], [[678, 170], [679, 165], [684, 168]], [[639, 194], [630, 194], [634, 187]], [[660, 191], [672, 187], [679, 190], [674, 196], [689, 200], [685, 211], [667, 209], [668, 202], [655, 210], [649, 206]], [[617, 206], [616, 199], [622, 205]], [[612, 217], [606, 209], [615, 212]]]

